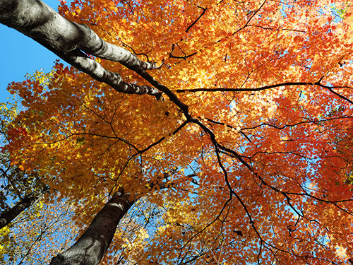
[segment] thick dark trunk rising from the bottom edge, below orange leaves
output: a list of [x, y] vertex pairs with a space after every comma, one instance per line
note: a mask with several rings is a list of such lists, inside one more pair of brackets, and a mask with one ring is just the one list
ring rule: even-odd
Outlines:
[[135, 202], [130, 201], [129, 196], [129, 193], [124, 194], [124, 190], [119, 189], [76, 243], [54, 257], [50, 265], [98, 264], [112, 242], [116, 226]]

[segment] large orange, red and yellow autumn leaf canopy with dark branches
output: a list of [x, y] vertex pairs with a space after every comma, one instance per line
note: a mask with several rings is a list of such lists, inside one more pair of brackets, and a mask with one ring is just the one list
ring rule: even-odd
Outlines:
[[25, 107], [11, 159], [84, 202], [77, 223], [119, 187], [140, 199], [138, 216], [153, 213], [145, 227], [130, 219], [131, 237], [117, 230], [104, 264], [349, 262], [349, 1], [77, 0], [59, 10], [163, 64], [148, 71], [161, 88], [96, 59], [127, 83], [164, 89], [164, 100], [117, 93], [59, 61], [9, 87]]

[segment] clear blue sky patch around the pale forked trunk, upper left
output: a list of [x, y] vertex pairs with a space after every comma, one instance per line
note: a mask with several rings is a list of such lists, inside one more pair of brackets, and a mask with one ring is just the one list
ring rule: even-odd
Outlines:
[[[57, 11], [59, 0], [42, 1]], [[26, 73], [41, 68], [50, 71], [58, 57], [22, 33], [0, 24], [0, 58], [0, 102], [6, 102], [8, 83], [23, 81]]]

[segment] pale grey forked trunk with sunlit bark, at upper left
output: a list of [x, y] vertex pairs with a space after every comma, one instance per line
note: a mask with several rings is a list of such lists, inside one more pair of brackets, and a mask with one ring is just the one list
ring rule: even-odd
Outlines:
[[40, 0], [1, 0], [0, 23], [31, 37], [68, 64], [119, 92], [160, 98], [156, 88], [126, 83], [119, 73], [104, 69], [86, 54], [118, 61], [133, 71], [157, 69], [155, 63], [141, 61], [128, 50], [105, 42], [87, 25], [67, 20]]

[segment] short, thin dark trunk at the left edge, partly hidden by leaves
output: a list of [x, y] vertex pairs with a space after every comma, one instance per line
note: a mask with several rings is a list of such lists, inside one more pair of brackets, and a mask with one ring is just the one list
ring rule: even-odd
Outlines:
[[42, 199], [44, 194], [49, 192], [49, 188], [45, 188], [40, 192], [39, 194], [30, 194], [28, 196], [25, 196], [18, 204], [13, 206], [10, 210], [8, 210], [6, 213], [1, 214], [0, 216], [0, 229], [4, 228], [6, 225], [11, 223], [13, 219], [16, 218], [20, 213], [25, 211], [25, 209], [29, 208], [33, 204], [36, 204], [37, 201]]

